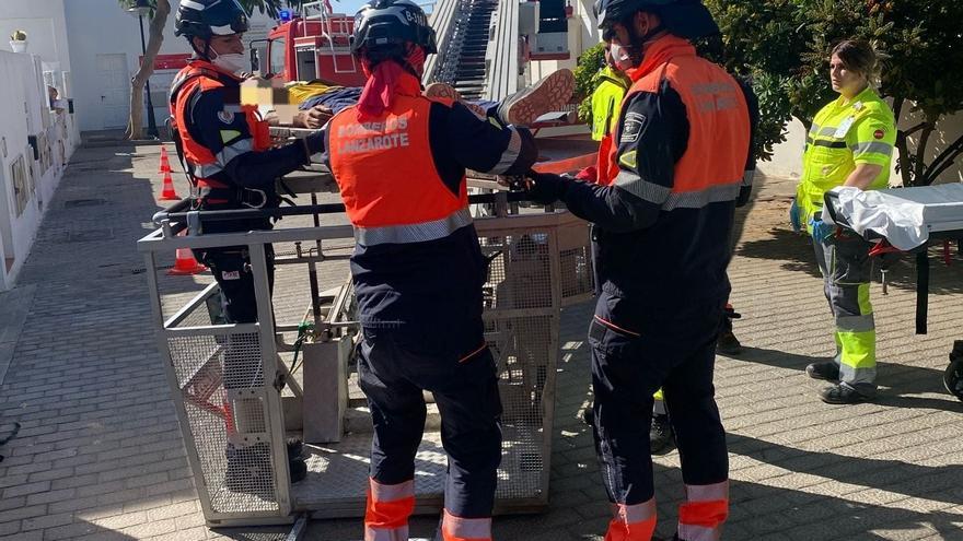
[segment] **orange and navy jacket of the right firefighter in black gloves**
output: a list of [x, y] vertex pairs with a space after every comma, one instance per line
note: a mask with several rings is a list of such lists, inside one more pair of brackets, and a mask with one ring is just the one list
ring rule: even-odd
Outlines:
[[735, 201], [752, 163], [746, 95], [675, 36], [653, 43], [628, 74], [597, 184], [565, 181], [560, 199], [595, 224], [596, 285], [633, 299], [613, 316], [631, 324], [678, 306], [721, 306]]

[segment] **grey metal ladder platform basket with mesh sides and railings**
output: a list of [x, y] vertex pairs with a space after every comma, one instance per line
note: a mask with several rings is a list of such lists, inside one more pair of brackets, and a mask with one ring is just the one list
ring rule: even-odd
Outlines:
[[[313, 180], [312, 180], [313, 178]], [[295, 183], [330, 191], [329, 177]], [[324, 189], [320, 187], [326, 187]], [[591, 296], [588, 226], [564, 211], [522, 209], [517, 193], [473, 196], [481, 250], [485, 332], [497, 360], [502, 460], [496, 513], [548, 505], [559, 318], [564, 306]], [[359, 329], [347, 258], [353, 233], [339, 204], [271, 211], [184, 211], [154, 216], [159, 228], [138, 242], [147, 267], [156, 346], [164, 362], [188, 460], [208, 526], [360, 517], [364, 511], [371, 423], [357, 388]], [[512, 213], [514, 209], [515, 213]], [[272, 231], [202, 230], [210, 220], [283, 215]], [[479, 213], [480, 214], [480, 213]], [[274, 293], [267, 262], [276, 252]], [[228, 324], [210, 275], [167, 277], [177, 248], [247, 250], [257, 321]], [[202, 281], [209, 283], [199, 283]], [[443, 502], [446, 459], [430, 395], [416, 458], [419, 514]], [[304, 439], [306, 479], [291, 483], [286, 440]]]

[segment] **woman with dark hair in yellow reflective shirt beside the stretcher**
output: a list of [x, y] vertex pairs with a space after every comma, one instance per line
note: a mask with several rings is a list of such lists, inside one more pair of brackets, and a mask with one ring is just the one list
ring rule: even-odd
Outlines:
[[869, 43], [848, 39], [833, 49], [829, 79], [839, 97], [813, 118], [802, 179], [790, 210], [793, 227], [805, 226], [812, 235], [836, 319], [835, 358], [813, 363], [805, 372], [835, 384], [820, 398], [836, 404], [875, 398], [877, 334], [869, 301], [870, 244], [822, 221], [823, 196], [838, 186], [870, 190], [889, 183], [896, 122], [873, 89], [878, 78], [879, 58]]

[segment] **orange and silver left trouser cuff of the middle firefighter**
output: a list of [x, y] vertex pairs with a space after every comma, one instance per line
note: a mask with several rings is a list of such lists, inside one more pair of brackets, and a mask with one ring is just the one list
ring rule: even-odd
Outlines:
[[415, 481], [381, 484], [368, 480], [364, 541], [407, 541], [408, 517], [415, 510]]

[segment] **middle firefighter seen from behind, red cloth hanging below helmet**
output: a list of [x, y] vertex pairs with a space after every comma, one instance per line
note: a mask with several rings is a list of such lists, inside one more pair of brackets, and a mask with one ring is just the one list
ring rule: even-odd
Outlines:
[[326, 153], [357, 240], [358, 373], [374, 425], [364, 539], [407, 539], [429, 390], [449, 456], [443, 538], [483, 541], [491, 538], [501, 401], [465, 169], [522, 175], [535, 163], [534, 139], [422, 96], [425, 57], [437, 46], [410, 0], [362, 7], [351, 48], [369, 78], [358, 105], [327, 125]]

